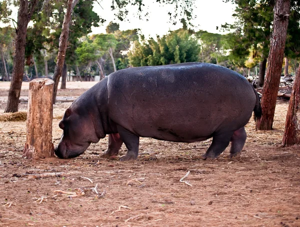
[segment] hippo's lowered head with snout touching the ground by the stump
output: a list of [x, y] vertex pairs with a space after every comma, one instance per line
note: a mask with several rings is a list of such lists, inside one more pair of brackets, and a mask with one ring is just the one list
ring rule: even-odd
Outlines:
[[[94, 117], [87, 109], [66, 109], [59, 127], [63, 134], [54, 152], [59, 158], [76, 157], [83, 153], [91, 142], [99, 141]], [[102, 136], [101, 136], [102, 137]]]

